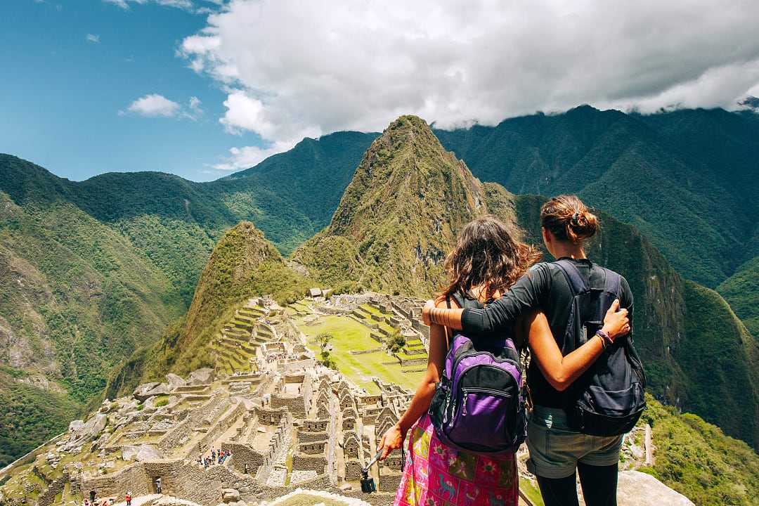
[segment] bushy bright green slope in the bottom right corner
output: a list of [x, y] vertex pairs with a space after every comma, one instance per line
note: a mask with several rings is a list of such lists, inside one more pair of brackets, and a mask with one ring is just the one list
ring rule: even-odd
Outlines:
[[691, 413], [679, 414], [650, 396], [641, 423], [650, 423], [653, 467], [641, 468], [698, 506], [756, 504], [759, 456], [745, 442]]

